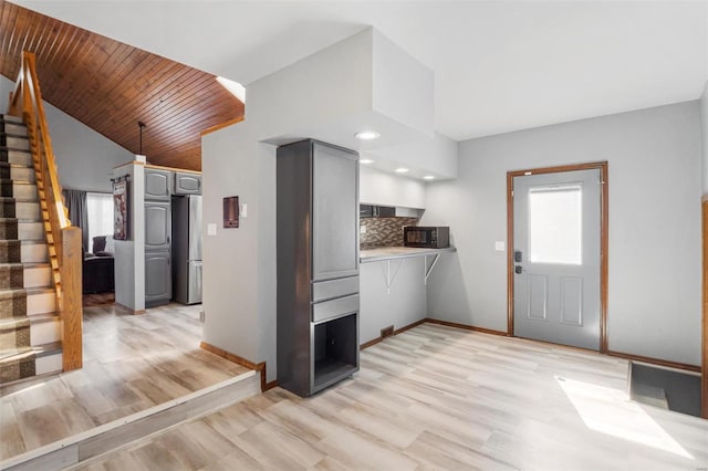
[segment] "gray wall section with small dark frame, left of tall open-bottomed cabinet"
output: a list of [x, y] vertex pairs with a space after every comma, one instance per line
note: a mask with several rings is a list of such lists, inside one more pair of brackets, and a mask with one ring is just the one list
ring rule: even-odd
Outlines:
[[[202, 138], [204, 341], [251, 362], [275, 364], [275, 147], [242, 122]], [[238, 229], [223, 229], [223, 197], [248, 205]], [[208, 224], [216, 224], [216, 236]]]

